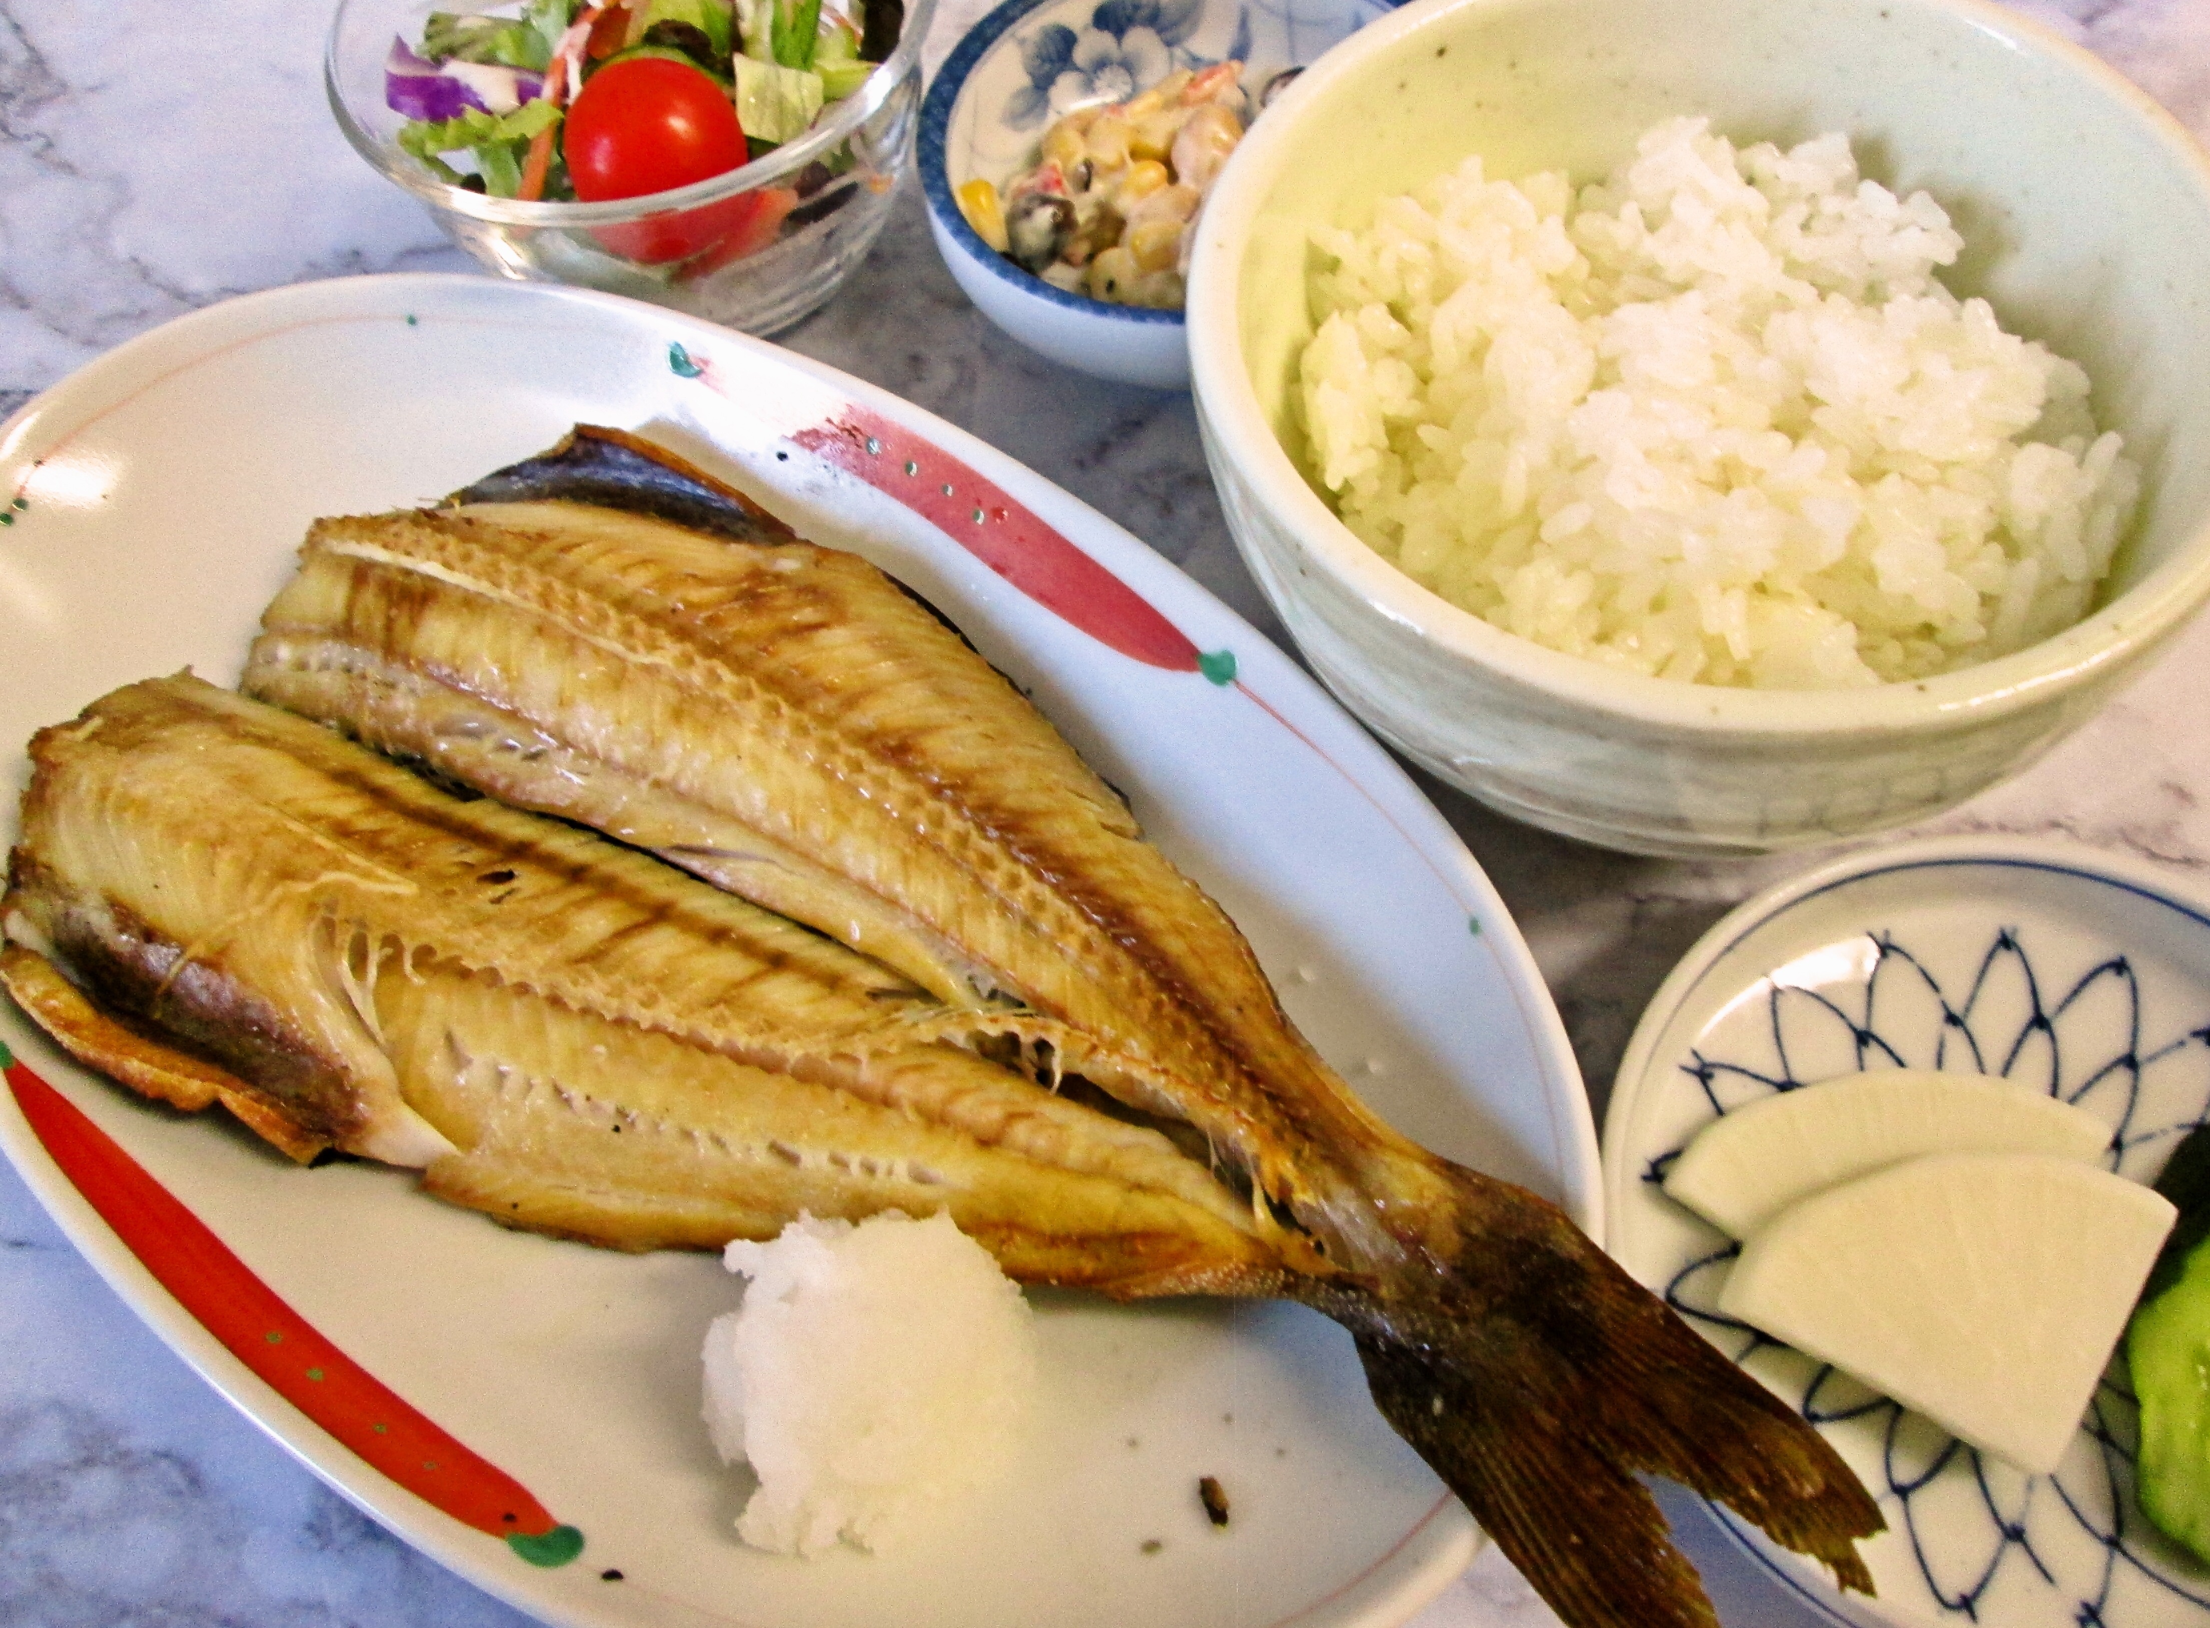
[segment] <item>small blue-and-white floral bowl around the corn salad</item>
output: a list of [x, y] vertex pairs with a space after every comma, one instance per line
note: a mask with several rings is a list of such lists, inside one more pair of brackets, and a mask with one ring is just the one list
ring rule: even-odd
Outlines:
[[1253, 99], [1388, 0], [1006, 0], [953, 46], [922, 104], [922, 192], [944, 265], [983, 316], [1054, 362], [1120, 384], [1189, 387], [1180, 311], [1067, 294], [992, 250], [957, 188], [1003, 188], [1036, 161], [1052, 119], [1125, 102], [1176, 68], [1238, 60]]

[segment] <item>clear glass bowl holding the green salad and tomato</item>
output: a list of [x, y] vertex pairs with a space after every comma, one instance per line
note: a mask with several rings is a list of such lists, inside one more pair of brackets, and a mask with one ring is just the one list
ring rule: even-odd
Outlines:
[[[546, 38], [559, 31], [557, 18], [550, 27], [546, 18], [561, 2], [535, 0], [530, 7]], [[577, 18], [590, 11], [583, 0], [568, 9]], [[829, 102], [804, 133], [769, 150], [754, 141], [749, 163], [703, 181], [597, 203], [499, 197], [513, 190], [513, 172], [499, 175], [504, 159], [480, 166], [466, 152], [433, 152], [424, 161], [400, 146], [409, 117], [387, 104], [393, 99], [387, 71], [433, 73], [415, 51], [440, 11], [438, 0], [343, 0], [323, 80], [338, 128], [360, 157], [422, 199], [446, 236], [499, 276], [628, 294], [747, 334], [776, 334], [835, 294], [888, 219], [891, 197], [913, 163], [922, 38], [933, 9], [935, 0], [904, 0], [895, 46], [857, 91]], [[497, 11], [517, 13], [519, 7], [508, 2]], [[444, 13], [440, 27], [453, 22]], [[645, 44], [634, 55], [674, 53]], [[502, 75], [495, 66], [464, 71], [471, 108], [482, 110], [486, 93], [493, 110], [513, 106], [515, 77]], [[522, 75], [522, 102], [533, 99], [537, 77]], [[449, 82], [433, 82], [429, 91], [462, 95]], [[435, 97], [413, 86], [396, 95], [415, 110]], [[449, 115], [438, 108], [435, 117]], [[522, 150], [517, 144], [515, 152]]]

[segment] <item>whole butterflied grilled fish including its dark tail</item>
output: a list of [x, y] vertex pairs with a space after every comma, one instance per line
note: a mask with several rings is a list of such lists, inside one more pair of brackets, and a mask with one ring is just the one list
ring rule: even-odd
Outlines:
[[245, 689], [33, 744], [0, 972], [95, 1067], [597, 1241], [950, 1208], [1028, 1281], [1297, 1299], [1569, 1624], [1713, 1621], [1638, 1471], [1870, 1593], [1819, 1436], [1556, 1206], [1381, 1124], [864, 561], [579, 431], [316, 524]]

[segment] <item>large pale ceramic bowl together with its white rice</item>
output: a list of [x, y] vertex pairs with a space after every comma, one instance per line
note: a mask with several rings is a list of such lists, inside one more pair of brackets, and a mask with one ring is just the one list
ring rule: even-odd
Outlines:
[[1408, 758], [1611, 848], [1947, 808], [2210, 599], [2210, 161], [1976, 0], [1417, 0], [1189, 276], [1229, 528]]

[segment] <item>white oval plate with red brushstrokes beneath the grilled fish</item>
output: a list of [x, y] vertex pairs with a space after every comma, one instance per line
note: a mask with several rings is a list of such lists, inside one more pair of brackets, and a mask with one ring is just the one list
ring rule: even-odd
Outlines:
[[[1379, 1111], [1600, 1224], [1580, 1080], [1518, 932], [1335, 702], [1140, 541], [970, 435], [645, 305], [477, 278], [303, 285], [161, 327], [31, 402], [0, 431], [0, 504], [20, 499], [0, 528], [13, 784], [35, 727], [122, 683], [186, 665], [232, 683], [312, 517], [435, 499], [575, 422], [663, 437], [941, 605], [1229, 908]], [[866, 433], [824, 440], [824, 424]], [[906, 457], [877, 468], [866, 448]], [[877, 490], [899, 490], [908, 462], [926, 464], [913, 501], [957, 488], [968, 541], [1059, 532], [1204, 669], [1134, 660], [1045, 610], [957, 541], [950, 508], [948, 532]], [[296, 1169], [219, 1116], [137, 1102], [13, 1007], [0, 1038], [345, 1354], [581, 1529], [581, 1557], [535, 1568], [340, 1449], [179, 1310], [0, 1091], [0, 1146], [124, 1299], [323, 1480], [548, 1621], [1381, 1626], [1478, 1542], [1330, 1323], [1039, 1294], [1050, 1378], [1010, 1484], [888, 1555], [747, 1551], [732, 1522], [749, 1478], [718, 1467], [698, 1425], [698, 1343], [736, 1301], [712, 1257], [504, 1233], [407, 1173]], [[1227, 1531], [1207, 1524], [1198, 1476], [1229, 1491]]]

